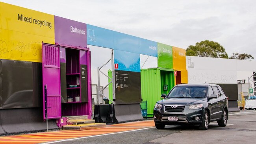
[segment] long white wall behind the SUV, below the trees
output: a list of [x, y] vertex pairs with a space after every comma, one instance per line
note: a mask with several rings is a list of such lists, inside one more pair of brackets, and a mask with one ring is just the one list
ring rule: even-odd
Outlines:
[[[256, 61], [186, 56], [189, 83], [237, 83], [256, 71]], [[253, 80], [253, 78], [251, 78]]]

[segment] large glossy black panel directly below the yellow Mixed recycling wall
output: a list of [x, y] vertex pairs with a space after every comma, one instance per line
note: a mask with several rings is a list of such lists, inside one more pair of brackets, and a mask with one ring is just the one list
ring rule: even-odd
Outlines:
[[0, 109], [41, 107], [42, 63], [0, 61]]

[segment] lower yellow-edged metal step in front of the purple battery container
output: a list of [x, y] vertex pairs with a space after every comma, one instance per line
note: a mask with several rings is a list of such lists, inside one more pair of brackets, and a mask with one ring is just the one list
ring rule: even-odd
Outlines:
[[94, 123], [94, 124], [78, 124], [78, 125], [66, 125], [63, 129], [66, 130], [85, 130], [85, 129], [97, 129], [101, 127], [106, 127], [105, 123]]

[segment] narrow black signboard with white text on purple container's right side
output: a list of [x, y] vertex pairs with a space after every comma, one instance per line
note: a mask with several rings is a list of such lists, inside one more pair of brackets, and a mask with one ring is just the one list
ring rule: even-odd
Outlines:
[[87, 65], [80, 65], [81, 102], [88, 102]]

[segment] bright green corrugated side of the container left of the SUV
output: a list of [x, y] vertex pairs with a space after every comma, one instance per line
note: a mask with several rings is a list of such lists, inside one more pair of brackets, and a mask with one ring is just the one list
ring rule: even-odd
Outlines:
[[148, 102], [148, 116], [152, 116], [153, 109], [158, 100], [161, 100], [160, 69], [141, 70], [141, 98]]

